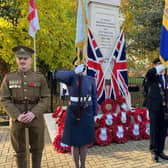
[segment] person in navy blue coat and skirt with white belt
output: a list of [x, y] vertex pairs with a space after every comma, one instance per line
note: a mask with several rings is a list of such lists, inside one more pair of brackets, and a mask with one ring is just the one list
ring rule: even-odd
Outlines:
[[85, 66], [77, 65], [76, 60], [73, 61], [74, 70], [58, 70], [53, 78], [65, 83], [70, 95], [62, 142], [72, 146], [75, 167], [84, 168], [88, 144], [95, 141], [97, 89], [95, 79], [87, 76]]

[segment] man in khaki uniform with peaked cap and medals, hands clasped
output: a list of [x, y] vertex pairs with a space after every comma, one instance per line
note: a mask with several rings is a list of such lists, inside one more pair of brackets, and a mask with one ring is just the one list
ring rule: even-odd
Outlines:
[[[34, 51], [26, 46], [14, 47], [13, 51], [16, 54], [18, 71], [5, 75], [0, 88], [0, 100], [10, 117], [10, 136], [16, 152], [17, 167], [26, 167], [25, 128], [27, 127], [32, 167], [40, 168], [44, 147], [43, 112], [48, 108], [49, 90], [44, 76], [31, 71], [31, 56]], [[25, 113], [26, 101], [27, 113]]]

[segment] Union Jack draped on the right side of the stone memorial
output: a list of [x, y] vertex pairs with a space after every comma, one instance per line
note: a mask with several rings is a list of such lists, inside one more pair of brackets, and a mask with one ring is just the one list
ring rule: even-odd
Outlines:
[[114, 100], [121, 95], [123, 97], [128, 96], [128, 71], [125, 49], [125, 38], [124, 32], [122, 31], [112, 55], [113, 70], [111, 77], [112, 87], [110, 89], [110, 97]]

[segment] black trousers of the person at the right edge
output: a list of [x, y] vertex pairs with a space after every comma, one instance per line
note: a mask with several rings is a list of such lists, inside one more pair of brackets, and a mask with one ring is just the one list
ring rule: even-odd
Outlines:
[[167, 121], [164, 119], [164, 112], [149, 111], [150, 117], [150, 150], [154, 153], [161, 153], [164, 150], [167, 134]]

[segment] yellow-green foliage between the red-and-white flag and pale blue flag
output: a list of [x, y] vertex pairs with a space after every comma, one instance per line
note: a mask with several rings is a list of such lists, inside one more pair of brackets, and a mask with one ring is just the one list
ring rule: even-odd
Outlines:
[[38, 6], [41, 26], [37, 35], [38, 55], [51, 69], [71, 67], [75, 55], [76, 1], [54, 2], [41, 1]]

